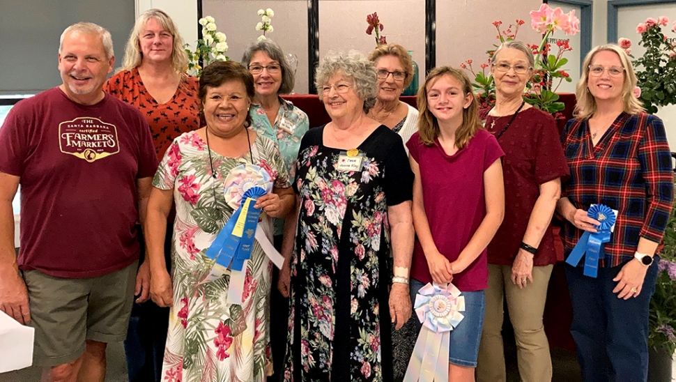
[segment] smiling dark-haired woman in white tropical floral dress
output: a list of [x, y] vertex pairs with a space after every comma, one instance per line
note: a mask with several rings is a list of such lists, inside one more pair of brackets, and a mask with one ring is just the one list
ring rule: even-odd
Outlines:
[[[270, 217], [293, 209], [288, 171], [279, 149], [247, 129], [254, 95], [249, 71], [239, 63], [207, 66], [199, 82], [206, 128], [174, 140], [155, 174], [144, 231], [151, 261], [151, 298], [171, 306], [164, 352], [164, 381], [265, 381], [268, 353], [268, 296], [272, 263], [254, 242], [247, 261], [243, 303], [229, 303], [231, 270], [204, 282], [213, 260], [206, 250], [233, 214], [224, 199], [224, 181], [243, 163], [260, 166], [274, 182], [260, 197], [263, 228], [272, 238]], [[171, 202], [176, 202], [172, 280], [162, 243]]]

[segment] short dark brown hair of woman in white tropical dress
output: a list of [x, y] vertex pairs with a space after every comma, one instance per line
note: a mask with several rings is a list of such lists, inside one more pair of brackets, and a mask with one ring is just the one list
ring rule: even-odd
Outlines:
[[[204, 112], [203, 108], [208, 88], [217, 88], [228, 81], [242, 82], [247, 91], [249, 102], [254, 99], [254, 95], [256, 95], [254, 76], [249, 73], [249, 69], [236, 61], [214, 61], [202, 70], [202, 75], [199, 77], [197, 98], [200, 101], [200, 114]], [[251, 114], [247, 113], [246, 125], [250, 126], [252, 123]]]

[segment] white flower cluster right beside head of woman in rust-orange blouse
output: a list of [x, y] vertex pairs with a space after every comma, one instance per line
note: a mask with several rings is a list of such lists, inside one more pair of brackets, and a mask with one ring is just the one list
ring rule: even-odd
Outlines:
[[[190, 50], [190, 45], [185, 44], [185, 52], [190, 61], [187, 64], [188, 70], [194, 70], [194, 75], [200, 77], [202, 68], [213, 61], [228, 61], [229, 57], [225, 55], [228, 51], [228, 43], [223, 32], [216, 31], [216, 23], [213, 17], [207, 16], [199, 19], [202, 26], [202, 38], [197, 40], [195, 51]], [[201, 62], [200, 62], [201, 61]]]

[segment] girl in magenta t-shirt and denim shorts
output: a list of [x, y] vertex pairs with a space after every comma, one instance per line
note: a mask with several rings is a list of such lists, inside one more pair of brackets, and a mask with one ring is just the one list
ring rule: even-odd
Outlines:
[[[482, 128], [467, 76], [433, 69], [417, 95], [418, 132], [410, 137], [413, 225], [417, 238], [410, 293], [452, 282], [465, 296], [465, 318], [451, 332], [449, 381], [474, 381], [488, 282], [486, 246], [505, 211], [502, 149]], [[420, 323], [418, 330], [420, 330]]]

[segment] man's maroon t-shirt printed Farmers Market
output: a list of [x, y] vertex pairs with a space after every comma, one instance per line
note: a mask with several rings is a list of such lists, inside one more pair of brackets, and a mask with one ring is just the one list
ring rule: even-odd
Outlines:
[[0, 147], [0, 171], [21, 178], [20, 269], [98, 277], [138, 259], [136, 180], [158, 165], [141, 112], [57, 87], [10, 110]]

